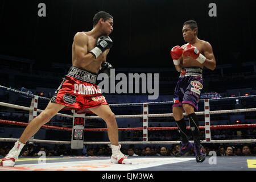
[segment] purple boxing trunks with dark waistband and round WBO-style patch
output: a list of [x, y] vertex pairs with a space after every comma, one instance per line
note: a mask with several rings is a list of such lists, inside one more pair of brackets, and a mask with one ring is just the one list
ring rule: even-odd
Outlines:
[[199, 67], [183, 68], [174, 89], [174, 104], [178, 107], [182, 104], [190, 104], [198, 110], [198, 103], [203, 89], [203, 69]]

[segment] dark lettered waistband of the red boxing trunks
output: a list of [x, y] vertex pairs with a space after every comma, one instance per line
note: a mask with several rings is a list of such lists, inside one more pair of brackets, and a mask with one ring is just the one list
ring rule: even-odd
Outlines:
[[89, 82], [91, 84], [96, 84], [97, 75], [90, 73], [88, 71], [85, 71], [83, 69], [79, 69], [77, 67], [72, 66], [69, 68], [69, 71], [67, 73], [67, 76], [74, 77], [78, 80]]

